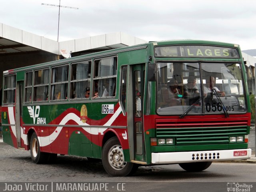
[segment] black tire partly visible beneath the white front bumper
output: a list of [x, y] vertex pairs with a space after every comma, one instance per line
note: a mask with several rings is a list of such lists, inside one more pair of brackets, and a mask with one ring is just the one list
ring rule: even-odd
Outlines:
[[208, 162], [180, 163], [180, 167], [188, 172], [199, 172], [207, 169], [212, 164]]

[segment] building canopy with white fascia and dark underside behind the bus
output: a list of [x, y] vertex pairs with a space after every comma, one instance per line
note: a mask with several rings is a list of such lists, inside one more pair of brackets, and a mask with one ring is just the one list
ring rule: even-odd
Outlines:
[[57, 42], [0, 23], [0, 88], [3, 71], [61, 59], [61, 49], [73, 57], [146, 42], [122, 32]]

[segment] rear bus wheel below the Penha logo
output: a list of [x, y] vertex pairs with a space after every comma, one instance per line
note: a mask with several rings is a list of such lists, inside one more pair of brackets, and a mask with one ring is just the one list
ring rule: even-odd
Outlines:
[[34, 132], [31, 136], [30, 140], [30, 155], [31, 159], [36, 164], [44, 164], [48, 163], [49, 153], [41, 152], [39, 146], [39, 140]]

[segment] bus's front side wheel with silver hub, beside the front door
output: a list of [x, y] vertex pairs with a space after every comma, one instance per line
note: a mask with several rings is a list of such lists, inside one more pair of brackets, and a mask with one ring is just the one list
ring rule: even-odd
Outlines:
[[102, 165], [110, 176], [124, 177], [136, 172], [138, 164], [125, 162], [118, 138], [110, 138], [102, 149]]

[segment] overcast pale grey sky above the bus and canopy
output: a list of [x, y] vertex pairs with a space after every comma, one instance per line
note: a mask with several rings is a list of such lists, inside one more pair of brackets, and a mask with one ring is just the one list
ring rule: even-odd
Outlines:
[[256, 49], [254, 0], [1, 0], [0, 23], [59, 41], [124, 32], [146, 41], [214, 40]]

